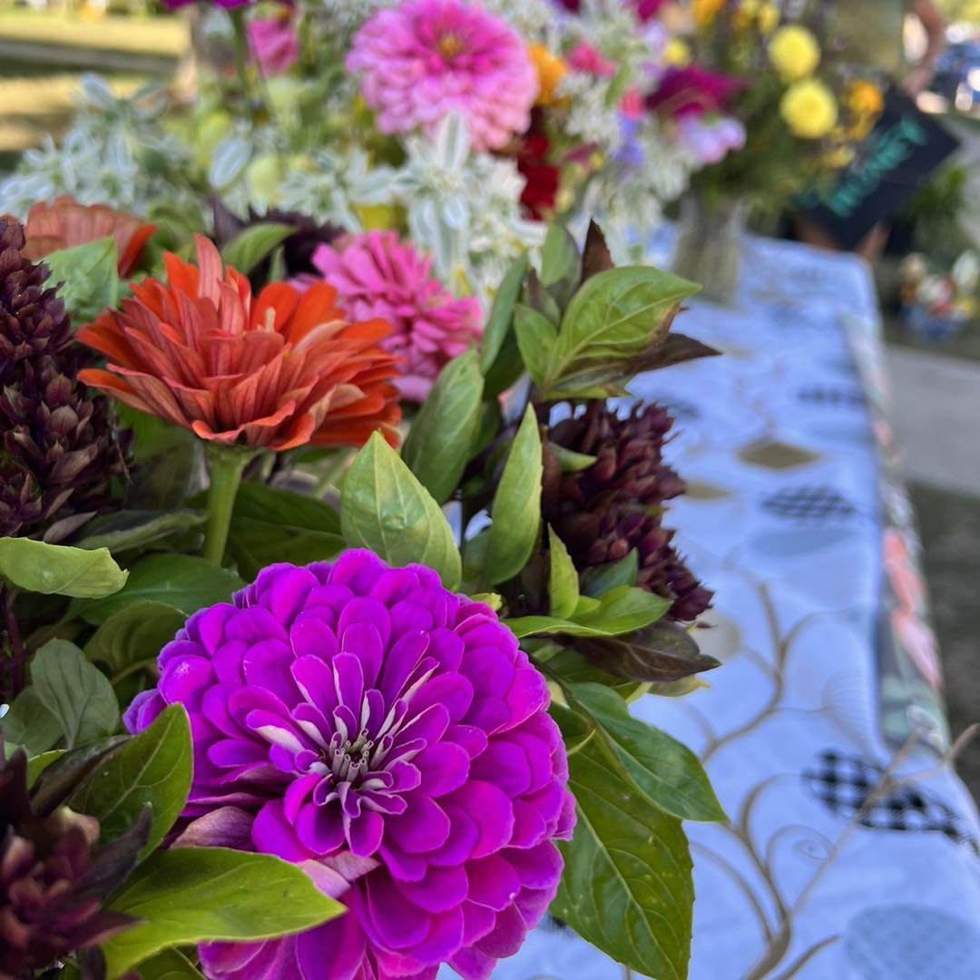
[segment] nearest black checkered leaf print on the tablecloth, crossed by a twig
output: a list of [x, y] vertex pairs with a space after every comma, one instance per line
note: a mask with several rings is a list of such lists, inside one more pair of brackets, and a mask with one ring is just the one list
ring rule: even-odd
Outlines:
[[[833, 749], [821, 752], [816, 759], [816, 764], [803, 772], [804, 784], [838, 816], [855, 819], [868, 794], [881, 782], [884, 768]], [[912, 783], [899, 786], [872, 804], [861, 813], [858, 822], [874, 830], [938, 832], [977, 850], [956, 811]]]

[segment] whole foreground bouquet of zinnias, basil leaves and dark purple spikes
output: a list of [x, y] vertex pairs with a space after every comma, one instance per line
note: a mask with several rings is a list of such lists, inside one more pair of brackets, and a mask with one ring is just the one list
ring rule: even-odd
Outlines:
[[554, 226], [429, 374], [383, 237], [330, 258], [368, 302], [158, 234], [0, 221], [0, 973], [475, 980], [550, 909], [683, 976], [724, 814], [628, 706], [716, 665], [711, 592], [607, 399], [714, 353], [697, 287]]

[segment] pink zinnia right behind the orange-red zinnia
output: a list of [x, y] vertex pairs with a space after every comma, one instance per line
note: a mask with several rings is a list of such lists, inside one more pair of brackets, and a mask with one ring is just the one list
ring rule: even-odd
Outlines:
[[479, 302], [454, 299], [431, 276], [431, 259], [399, 242], [394, 231], [368, 231], [321, 245], [313, 264], [337, 290], [349, 317], [391, 324], [383, 346], [403, 359], [403, 374], [395, 380], [403, 398], [423, 401], [446, 363], [480, 337]]

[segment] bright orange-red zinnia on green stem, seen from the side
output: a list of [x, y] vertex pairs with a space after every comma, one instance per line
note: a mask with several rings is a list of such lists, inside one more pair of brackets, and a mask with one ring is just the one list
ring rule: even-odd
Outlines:
[[134, 283], [122, 310], [78, 331], [109, 359], [78, 377], [227, 445], [360, 446], [375, 429], [397, 445], [398, 359], [377, 346], [390, 325], [345, 322], [325, 283], [276, 282], [253, 299], [248, 279], [195, 237], [196, 267], [167, 254], [166, 283]]

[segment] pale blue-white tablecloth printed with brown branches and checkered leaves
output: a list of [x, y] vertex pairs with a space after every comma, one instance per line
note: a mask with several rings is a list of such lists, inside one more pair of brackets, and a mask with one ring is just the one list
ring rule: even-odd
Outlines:
[[[940, 670], [869, 275], [754, 241], [738, 302], [694, 304], [676, 325], [724, 356], [633, 391], [677, 418], [670, 457], [690, 491], [669, 522], [716, 590], [698, 638], [723, 665], [709, 689], [635, 712], [702, 755], [731, 817], [687, 824], [691, 980], [977, 980], [980, 825], [940, 764]], [[897, 785], [862, 810], [886, 771]], [[622, 976], [554, 925], [494, 973]]]

